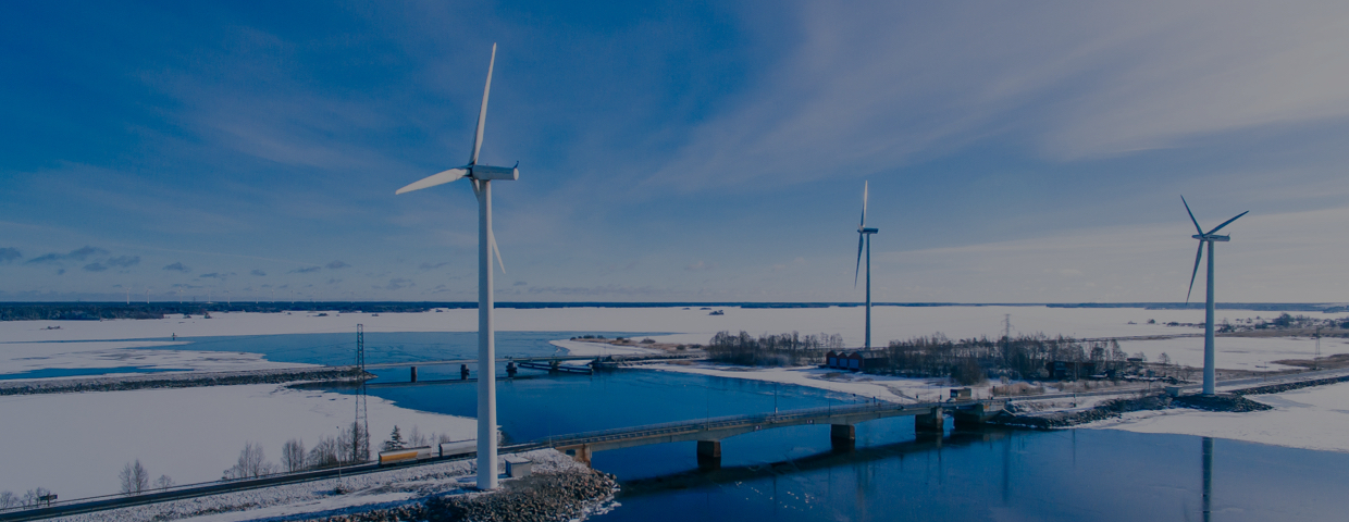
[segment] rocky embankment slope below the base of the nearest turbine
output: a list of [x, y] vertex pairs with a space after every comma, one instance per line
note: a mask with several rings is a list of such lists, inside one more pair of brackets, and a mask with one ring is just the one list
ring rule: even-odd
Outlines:
[[312, 522], [564, 522], [602, 510], [618, 491], [612, 475], [590, 468], [534, 473], [502, 483], [500, 491], [433, 496], [425, 502]]

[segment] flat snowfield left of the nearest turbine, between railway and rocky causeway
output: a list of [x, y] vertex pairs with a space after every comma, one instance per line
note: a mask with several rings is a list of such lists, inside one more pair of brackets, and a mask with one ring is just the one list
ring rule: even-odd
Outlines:
[[[281, 446], [336, 437], [355, 413], [351, 395], [277, 384], [0, 397], [0, 491], [46, 487], [62, 499], [117, 492], [117, 473], [140, 459], [151, 477], [219, 480], [244, 442], [279, 464]], [[372, 444], [398, 425], [476, 438], [472, 418], [422, 413], [370, 397]]]

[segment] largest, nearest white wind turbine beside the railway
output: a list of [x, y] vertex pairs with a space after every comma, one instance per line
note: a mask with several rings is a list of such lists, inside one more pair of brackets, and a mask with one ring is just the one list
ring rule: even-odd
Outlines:
[[[492, 90], [492, 65], [496, 62], [496, 45], [492, 43], [492, 58], [487, 62], [487, 85], [483, 86], [483, 105], [478, 111], [478, 132], [473, 134], [472, 155], [468, 165], [433, 174], [394, 194], [421, 190], [468, 178], [478, 197], [478, 488], [496, 488], [496, 341], [492, 326], [492, 252], [502, 272], [500, 250], [492, 235], [492, 179], [519, 179], [515, 167], [492, 167], [478, 165], [478, 151], [483, 146], [483, 127], [487, 125], [487, 94]], [[519, 163], [515, 163], [519, 166]]]

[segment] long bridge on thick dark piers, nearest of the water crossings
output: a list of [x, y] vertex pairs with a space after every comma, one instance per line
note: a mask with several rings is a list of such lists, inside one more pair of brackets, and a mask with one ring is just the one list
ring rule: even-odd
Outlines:
[[722, 440], [739, 434], [801, 425], [830, 425], [830, 442], [835, 448], [851, 448], [857, 440], [855, 425], [859, 422], [911, 415], [915, 417], [915, 430], [942, 433], [947, 411], [959, 425], [981, 425], [1001, 413], [1004, 405], [1005, 401], [1001, 399], [952, 399], [915, 405], [880, 402], [826, 406], [577, 433], [542, 438], [533, 444], [563, 451], [590, 464], [592, 453], [607, 449], [697, 441], [699, 465], [716, 468], [722, 463]]

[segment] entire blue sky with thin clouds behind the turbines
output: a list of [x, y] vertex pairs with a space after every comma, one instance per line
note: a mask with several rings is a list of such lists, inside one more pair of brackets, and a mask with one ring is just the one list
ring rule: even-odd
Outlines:
[[[0, 299], [1349, 301], [1349, 4], [5, 3]], [[1202, 287], [1197, 289], [1202, 293]]]

